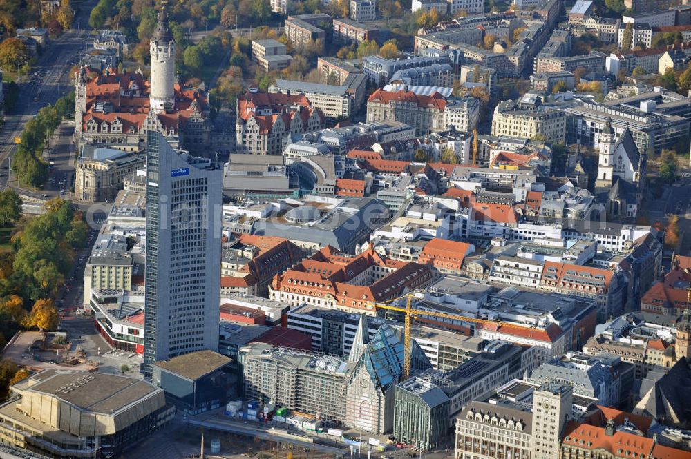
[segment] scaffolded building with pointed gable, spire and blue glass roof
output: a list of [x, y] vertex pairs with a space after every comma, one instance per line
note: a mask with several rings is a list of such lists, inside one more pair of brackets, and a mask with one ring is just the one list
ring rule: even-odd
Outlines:
[[[245, 400], [272, 402], [372, 433], [392, 429], [404, 368], [403, 333], [382, 325], [372, 338], [361, 320], [347, 357], [250, 344], [240, 349]], [[430, 369], [415, 342], [410, 368]]]

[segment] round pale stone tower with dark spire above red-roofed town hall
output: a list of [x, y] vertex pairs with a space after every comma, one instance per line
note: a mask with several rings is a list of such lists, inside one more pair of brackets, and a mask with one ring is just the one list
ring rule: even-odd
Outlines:
[[151, 38], [151, 110], [162, 113], [175, 108], [175, 52], [165, 5], [158, 14], [158, 28]]

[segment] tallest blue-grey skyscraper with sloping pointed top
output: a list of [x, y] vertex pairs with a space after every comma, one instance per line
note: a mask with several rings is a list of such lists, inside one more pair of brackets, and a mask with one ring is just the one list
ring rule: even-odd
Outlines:
[[151, 364], [218, 350], [221, 171], [149, 130], [144, 378]]

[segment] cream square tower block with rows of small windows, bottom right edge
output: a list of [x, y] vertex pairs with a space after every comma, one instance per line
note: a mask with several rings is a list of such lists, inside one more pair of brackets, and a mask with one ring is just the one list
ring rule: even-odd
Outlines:
[[532, 459], [559, 459], [562, 429], [571, 416], [574, 387], [546, 382], [533, 391]]

